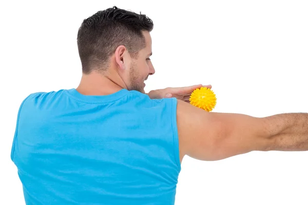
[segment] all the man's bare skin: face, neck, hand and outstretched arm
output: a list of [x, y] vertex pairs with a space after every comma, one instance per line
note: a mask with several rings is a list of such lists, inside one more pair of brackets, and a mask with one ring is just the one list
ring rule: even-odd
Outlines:
[[[132, 58], [124, 46], [110, 57], [107, 72], [83, 74], [76, 88], [84, 95], [108, 95], [121, 89], [144, 92], [144, 81], [155, 73], [152, 40]], [[185, 155], [199, 160], [221, 160], [251, 151], [308, 150], [308, 114], [286, 113], [257, 118], [236, 113], [206, 112], [188, 104], [192, 91], [202, 85], [165, 88], [147, 93], [150, 98], [176, 97], [180, 161]], [[210, 85], [204, 86], [211, 88]]]

